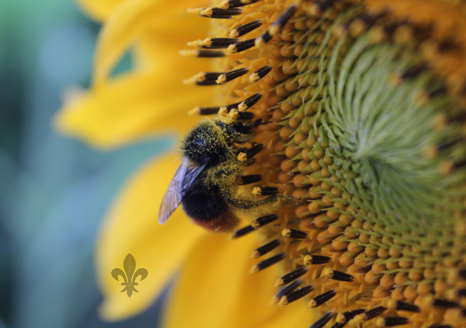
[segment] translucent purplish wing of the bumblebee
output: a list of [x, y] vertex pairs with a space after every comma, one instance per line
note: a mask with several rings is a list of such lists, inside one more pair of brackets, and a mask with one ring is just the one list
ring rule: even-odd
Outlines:
[[200, 164], [190, 164], [186, 157], [181, 162], [175, 176], [170, 182], [170, 185], [165, 191], [160, 210], [158, 211], [158, 223], [164, 224], [171, 214], [175, 212], [181, 203], [181, 198], [186, 190], [192, 185], [194, 179], [204, 170], [209, 163], [209, 159], [205, 159]]

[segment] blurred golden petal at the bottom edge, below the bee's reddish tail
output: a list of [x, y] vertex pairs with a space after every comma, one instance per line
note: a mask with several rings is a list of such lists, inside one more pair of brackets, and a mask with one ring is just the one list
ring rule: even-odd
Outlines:
[[257, 246], [254, 234], [235, 240], [211, 234], [199, 240], [174, 287], [164, 328], [310, 325], [316, 316], [302, 301], [284, 307], [268, 305], [276, 293], [273, 286], [278, 273], [274, 267], [249, 273], [259, 261], [250, 258]]

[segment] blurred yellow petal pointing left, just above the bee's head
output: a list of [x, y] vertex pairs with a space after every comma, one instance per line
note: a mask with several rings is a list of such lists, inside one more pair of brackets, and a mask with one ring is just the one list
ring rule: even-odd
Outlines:
[[[206, 89], [167, 81], [158, 88], [157, 76], [123, 75], [91, 89], [65, 104], [55, 116], [57, 130], [84, 139], [100, 148], [111, 148], [135, 139], [170, 131], [185, 132], [199, 117], [188, 115], [212, 96]], [[131, 92], [128, 92], [131, 90]]]

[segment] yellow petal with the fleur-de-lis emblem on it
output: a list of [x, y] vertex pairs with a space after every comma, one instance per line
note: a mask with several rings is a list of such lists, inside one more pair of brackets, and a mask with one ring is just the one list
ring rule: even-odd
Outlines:
[[[194, 226], [178, 208], [168, 222], [159, 225], [158, 208], [179, 161], [175, 156], [161, 158], [137, 172], [115, 200], [96, 247], [97, 278], [104, 295], [100, 314], [116, 321], [148, 308], [167, 280], [183, 263], [192, 246], [207, 234]], [[111, 271], [123, 268], [131, 253], [136, 270], [145, 268], [146, 279], [129, 298]]]

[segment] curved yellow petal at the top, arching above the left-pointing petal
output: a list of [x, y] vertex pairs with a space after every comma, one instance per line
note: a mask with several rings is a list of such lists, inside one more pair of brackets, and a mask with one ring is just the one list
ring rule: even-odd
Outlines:
[[[186, 42], [192, 41], [194, 32], [197, 32], [198, 36], [204, 34], [209, 27], [206, 21], [186, 13], [186, 8], [204, 2], [206, 1], [173, 0], [169, 6], [162, 0], [123, 2], [106, 21], [99, 35], [94, 83], [103, 83], [124, 51], [149, 29], [154, 38], [176, 43], [177, 50], [185, 47]], [[179, 30], [182, 33], [179, 33]], [[164, 43], [166, 42], [161, 42], [159, 55], [155, 58], [158, 65], [164, 64], [163, 54], [166, 48]]]

